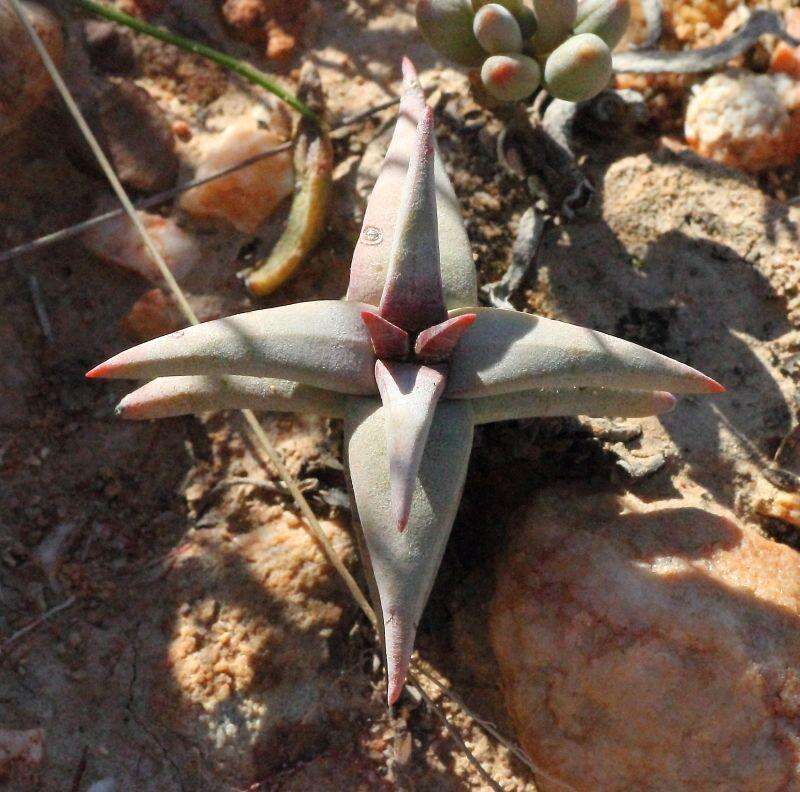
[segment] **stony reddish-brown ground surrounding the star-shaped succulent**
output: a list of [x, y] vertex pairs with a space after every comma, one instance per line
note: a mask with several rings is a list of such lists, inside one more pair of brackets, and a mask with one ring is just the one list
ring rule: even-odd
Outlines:
[[[192, 8], [168, 3], [163, 19], [253, 54], [209, 4]], [[73, 22], [71, 34], [80, 27]], [[416, 61], [436, 103], [481, 282], [495, 280], [530, 198], [498, 165], [498, 122], [467, 106], [465, 78], [436, 62], [406, 4], [331, 0], [309, 12], [304, 30], [298, 46], [319, 69], [334, 120], [393, 96], [400, 55]], [[132, 57], [136, 81], [170, 120], [198, 134], [221, 128], [241, 103], [256, 103], [218, 70], [161, 46], [136, 42]], [[288, 84], [299, 59], [284, 69]], [[55, 106], [37, 118], [7, 154], [2, 247], [87, 217], [106, 192], [63, 144], [67, 121]], [[326, 237], [302, 273], [263, 304], [343, 292], [358, 211], [391, 118], [386, 111], [336, 133]], [[185, 167], [191, 144], [179, 153]], [[788, 524], [758, 513], [777, 493], [763, 474], [797, 411], [800, 208], [679, 143], [665, 145], [652, 130], [587, 154], [597, 201], [548, 228], [517, 307], [645, 344], [729, 392], [686, 398], [660, 420], [549, 419], [479, 431], [418, 646], [424, 667], [473, 715], [432, 684], [426, 690], [504, 789], [535, 787], [530, 771], [479, 728], [481, 719], [514, 736], [488, 603], [508, 566], [508, 537], [538, 492], [556, 493], [568, 512], [573, 485], [646, 502], [684, 497], [732, 510], [795, 547], [800, 541]], [[274, 238], [279, 222], [261, 236]], [[230, 235], [208, 235], [207, 262], [188, 284], [205, 315], [262, 305], [236, 277], [259, 244], [266, 243], [237, 254]], [[120, 322], [151, 285], [103, 264], [80, 241], [4, 266], [0, 730], [41, 728], [45, 751], [38, 781], [20, 788], [84, 790], [107, 779], [119, 790], [159, 792], [486, 788], [418, 700], [406, 697], [387, 712], [365, 619], [264, 473], [240, 419], [122, 423], [113, 406], [125, 385], [83, 379], [130, 344]], [[339, 427], [283, 416], [264, 425], [362, 580], [342, 500]], [[783, 464], [800, 474], [798, 460]], [[69, 597], [68, 609], [16, 636]]]

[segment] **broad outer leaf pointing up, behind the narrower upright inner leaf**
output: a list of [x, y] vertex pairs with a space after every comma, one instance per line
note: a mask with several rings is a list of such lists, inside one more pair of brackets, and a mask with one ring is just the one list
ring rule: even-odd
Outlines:
[[[389, 254], [398, 214], [398, 196], [403, 191], [416, 130], [425, 110], [425, 96], [417, 73], [403, 59], [403, 95], [389, 150], [372, 190], [361, 234], [350, 267], [347, 299], [378, 305], [389, 269]], [[467, 232], [442, 158], [435, 151], [436, 216], [442, 290], [448, 309], [465, 308], [478, 302], [477, 276]]]

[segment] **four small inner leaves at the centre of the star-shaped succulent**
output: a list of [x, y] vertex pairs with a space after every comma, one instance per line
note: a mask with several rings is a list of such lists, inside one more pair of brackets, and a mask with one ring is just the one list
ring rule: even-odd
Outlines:
[[439, 262], [433, 111], [419, 121], [403, 185], [379, 309], [362, 311], [386, 408], [389, 485], [395, 525], [403, 531], [448, 361], [474, 313], [447, 317]]

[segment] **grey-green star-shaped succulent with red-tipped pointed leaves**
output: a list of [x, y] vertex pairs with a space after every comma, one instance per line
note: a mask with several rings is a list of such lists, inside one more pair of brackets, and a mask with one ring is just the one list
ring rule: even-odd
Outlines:
[[[343, 300], [240, 314], [129, 349], [87, 376], [151, 382], [118, 407], [149, 419], [251, 408], [344, 421], [361, 553], [394, 703], [458, 509], [477, 424], [644, 416], [723, 388], [603, 333], [477, 307], [475, 267], [403, 62], [400, 114], [367, 204]], [[280, 377], [281, 379], [273, 379]]]

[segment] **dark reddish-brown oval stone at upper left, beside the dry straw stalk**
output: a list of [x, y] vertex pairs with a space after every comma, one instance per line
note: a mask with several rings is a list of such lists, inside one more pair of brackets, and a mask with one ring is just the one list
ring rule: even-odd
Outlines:
[[107, 150], [123, 184], [148, 193], [172, 187], [178, 178], [175, 138], [150, 94], [130, 80], [109, 81], [100, 92], [99, 110]]

